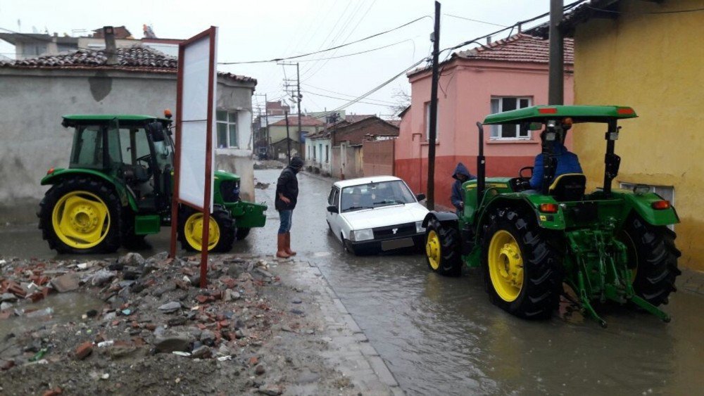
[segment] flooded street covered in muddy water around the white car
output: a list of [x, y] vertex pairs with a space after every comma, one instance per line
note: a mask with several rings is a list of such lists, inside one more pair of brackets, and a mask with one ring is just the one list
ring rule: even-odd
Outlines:
[[[257, 200], [273, 202], [279, 170], [259, 170]], [[704, 298], [680, 291], [670, 324], [621, 307], [599, 310], [609, 327], [579, 314], [524, 321], [489, 302], [475, 270], [458, 279], [427, 269], [422, 255], [354, 257], [325, 223], [332, 181], [300, 174], [292, 248], [320, 267], [372, 345], [409, 394], [701, 394]], [[419, 192], [419, 191], [415, 191]], [[277, 212], [234, 252], [275, 252]], [[149, 256], [168, 250], [168, 229], [148, 239]], [[125, 253], [125, 252], [118, 252]], [[36, 224], [0, 227], [0, 256], [65, 258]], [[563, 307], [564, 308], [564, 307]]]

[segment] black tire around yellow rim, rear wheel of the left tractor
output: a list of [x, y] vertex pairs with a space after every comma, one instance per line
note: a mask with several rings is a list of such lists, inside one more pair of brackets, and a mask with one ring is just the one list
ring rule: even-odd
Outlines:
[[[100, 198], [105, 207], [107, 207], [108, 223], [103, 224], [101, 241], [96, 245], [82, 248], [80, 246], [70, 245], [58, 236], [54, 229], [52, 216], [54, 215], [54, 207], [61, 201], [61, 198], [68, 194], [77, 194], [79, 191], [84, 191]], [[80, 196], [80, 193], [77, 195]], [[95, 202], [96, 200], [90, 196], [80, 196], [87, 200]], [[42, 238], [49, 243], [49, 248], [56, 250], [58, 253], [73, 253], [73, 254], [94, 254], [94, 253], [113, 253], [120, 248], [120, 198], [115, 193], [113, 186], [106, 181], [91, 179], [89, 177], [79, 176], [70, 177], [58, 181], [54, 186], [46, 191], [42, 202], [39, 203], [39, 229], [42, 229]], [[61, 210], [59, 208], [58, 210]], [[63, 232], [59, 232], [63, 235]]]

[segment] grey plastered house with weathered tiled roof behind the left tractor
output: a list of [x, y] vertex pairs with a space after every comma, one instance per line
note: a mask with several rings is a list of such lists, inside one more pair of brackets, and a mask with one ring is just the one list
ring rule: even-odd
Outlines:
[[[0, 63], [0, 206], [38, 203], [46, 170], [68, 167], [73, 132], [65, 114], [163, 115], [175, 110], [176, 60], [149, 49], [118, 49], [118, 65], [100, 51]], [[254, 200], [251, 96], [256, 80], [218, 75], [216, 169], [241, 177]], [[33, 212], [32, 212], [33, 215]]]

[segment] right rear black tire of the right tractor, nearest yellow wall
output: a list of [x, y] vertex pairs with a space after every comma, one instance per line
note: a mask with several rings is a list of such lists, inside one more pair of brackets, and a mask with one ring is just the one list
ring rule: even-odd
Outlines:
[[629, 268], [636, 271], [636, 295], [656, 307], [667, 304], [670, 293], [677, 290], [674, 281], [681, 274], [677, 268], [681, 253], [674, 246], [676, 234], [666, 226], [653, 226], [631, 215], [619, 238], [626, 245]]

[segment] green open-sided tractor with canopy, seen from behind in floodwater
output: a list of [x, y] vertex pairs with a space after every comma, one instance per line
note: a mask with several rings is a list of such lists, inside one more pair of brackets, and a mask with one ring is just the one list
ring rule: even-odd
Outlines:
[[[551, 317], [564, 294], [604, 327], [594, 305], [609, 300], [670, 321], [658, 306], [667, 303], [680, 274], [675, 234], [667, 228], [679, 222], [677, 212], [648, 186], [611, 188], [620, 165], [617, 120], [634, 117], [632, 108], [620, 106], [534, 106], [487, 116], [484, 124], [544, 128], [542, 191], [531, 190], [530, 175], [523, 174], [532, 167], [518, 177], [485, 177], [477, 122], [477, 179], [462, 185], [463, 211], [430, 212], [423, 222], [430, 269], [459, 276], [463, 264], [481, 268], [490, 300], [526, 319]], [[572, 122], [607, 129], [603, 187], [590, 193], [584, 174], [555, 177], [553, 142], [564, 141]]]

